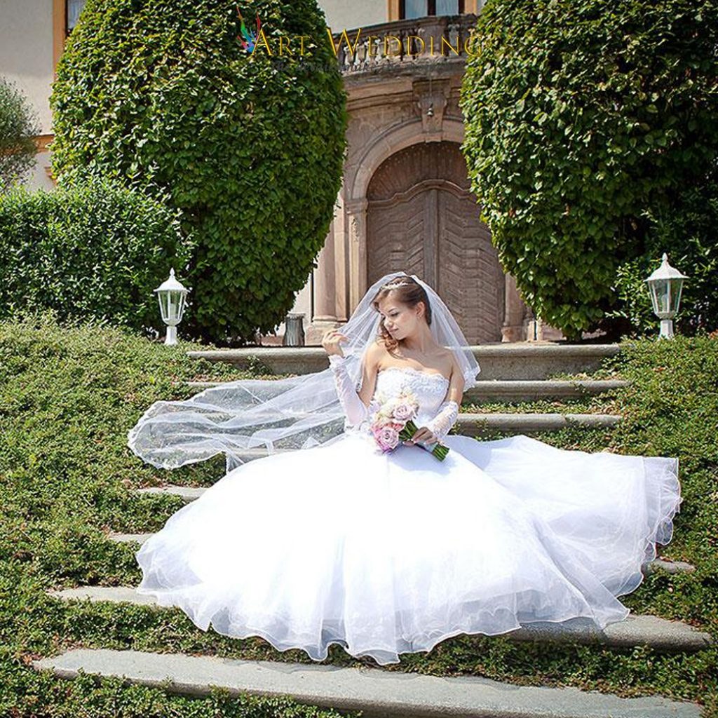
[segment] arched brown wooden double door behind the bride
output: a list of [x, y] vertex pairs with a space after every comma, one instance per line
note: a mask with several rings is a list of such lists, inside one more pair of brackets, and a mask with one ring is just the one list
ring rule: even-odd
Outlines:
[[421, 142], [378, 167], [367, 190], [367, 282], [406, 270], [434, 287], [470, 344], [501, 340], [505, 276], [454, 142]]

